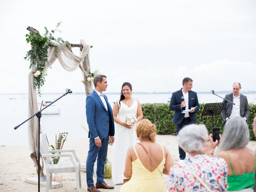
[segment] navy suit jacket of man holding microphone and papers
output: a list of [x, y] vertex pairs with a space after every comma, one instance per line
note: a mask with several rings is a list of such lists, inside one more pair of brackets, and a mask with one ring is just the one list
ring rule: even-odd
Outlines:
[[[172, 98], [170, 101], [170, 110], [174, 110], [174, 116], [172, 122], [174, 124], [180, 124], [182, 120], [184, 119], [184, 113], [181, 113], [181, 111], [185, 110], [185, 107], [180, 108], [180, 104], [182, 101], [184, 101], [181, 97], [183, 96], [182, 90], [178, 90], [174, 93], [172, 93]], [[192, 123], [196, 123], [196, 112], [199, 110], [199, 103], [198, 103], [198, 98], [197, 94], [194, 91], [189, 91], [188, 92], [188, 108], [195, 107], [195, 112], [194, 113], [189, 113], [190, 120]]]

